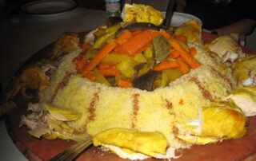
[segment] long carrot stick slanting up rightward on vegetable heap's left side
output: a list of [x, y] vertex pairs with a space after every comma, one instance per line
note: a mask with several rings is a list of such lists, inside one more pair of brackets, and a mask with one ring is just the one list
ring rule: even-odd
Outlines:
[[88, 73], [92, 69], [94, 69], [98, 65], [98, 63], [102, 61], [102, 59], [106, 57], [117, 45], [118, 43], [116, 43], [115, 41], [107, 42], [102, 47], [102, 49], [98, 50], [98, 53], [96, 53], [92, 60], [90, 60], [89, 64], [86, 65], [82, 73]]

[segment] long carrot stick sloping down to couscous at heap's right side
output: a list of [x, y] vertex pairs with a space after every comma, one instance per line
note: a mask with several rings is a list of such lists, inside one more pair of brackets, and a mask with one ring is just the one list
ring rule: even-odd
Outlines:
[[183, 49], [176, 40], [170, 41], [170, 45], [172, 45], [174, 49], [181, 53], [180, 57], [182, 57], [182, 60], [185, 61], [187, 65], [190, 65], [192, 69], [196, 69], [201, 65], [201, 63], [194, 59], [194, 57], [190, 56], [190, 53], [186, 52], [186, 50]]

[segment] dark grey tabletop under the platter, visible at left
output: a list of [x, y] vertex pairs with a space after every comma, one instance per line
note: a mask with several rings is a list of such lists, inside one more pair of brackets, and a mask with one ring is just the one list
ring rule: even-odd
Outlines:
[[[103, 10], [77, 7], [54, 16], [10, 14], [0, 18], [0, 82], [5, 89], [18, 68], [34, 53], [54, 42], [66, 31], [82, 32], [105, 23]], [[27, 160], [12, 143], [4, 121], [0, 121], [1, 160]]]

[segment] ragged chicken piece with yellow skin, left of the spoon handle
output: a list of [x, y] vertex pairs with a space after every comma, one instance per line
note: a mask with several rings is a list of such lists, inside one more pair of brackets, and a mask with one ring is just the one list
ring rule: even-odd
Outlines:
[[74, 141], [83, 141], [88, 138], [86, 133], [78, 133], [64, 122], [78, 120], [81, 116], [78, 112], [52, 104], [34, 104], [34, 107], [42, 109], [42, 111], [22, 116], [20, 121], [20, 127], [26, 125], [30, 128], [30, 135], [37, 138], [73, 139]]

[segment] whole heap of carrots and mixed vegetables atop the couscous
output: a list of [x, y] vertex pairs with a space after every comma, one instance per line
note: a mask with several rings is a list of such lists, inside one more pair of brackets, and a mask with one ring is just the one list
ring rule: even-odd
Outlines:
[[[117, 25], [110, 30], [100, 29], [98, 41], [116, 29]], [[172, 37], [165, 29], [123, 30], [113, 38], [99, 49], [85, 44], [85, 51], [73, 60], [82, 77], [106, 85], [152, 91], [201, 65], [194, 58], [196, 49], [190, 49], [182, 33]], [[175, 73], [170, 77], [170, 69], [180, 71], [178, 76]]]

